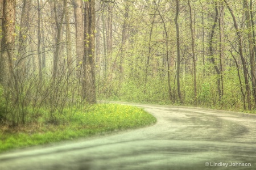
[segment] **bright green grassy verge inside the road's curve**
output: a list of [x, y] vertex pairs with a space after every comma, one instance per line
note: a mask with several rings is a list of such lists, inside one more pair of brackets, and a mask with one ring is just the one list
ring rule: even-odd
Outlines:
[[42, 118], [35, 124], [18, 130], [10, 130], [2, 126], [0, 127], [0, 152], [88, 137], [102, 132], [138, 128], [155, 122], [156, 118], [143, 109], [128, 105], [97, 104], [76, 112], [69, 117], [68, 121], [63, 121], [59, 125], [49, 124]]

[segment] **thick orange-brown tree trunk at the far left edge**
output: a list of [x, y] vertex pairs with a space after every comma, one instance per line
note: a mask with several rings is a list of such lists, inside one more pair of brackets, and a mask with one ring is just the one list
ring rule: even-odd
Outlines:
[[[18, 105], [18, 80], [14, 74], [14, 42], [15, 42], [15, 0], [3, 0], [3, 27], [0, 57], [0, 84], [5, 88], [6, 94], [11, 92], [14, 104]], [[11, 113], [13, 126], [19, 122], [17, 113]], [[19, 114], [19, 113], [18, 113]]]

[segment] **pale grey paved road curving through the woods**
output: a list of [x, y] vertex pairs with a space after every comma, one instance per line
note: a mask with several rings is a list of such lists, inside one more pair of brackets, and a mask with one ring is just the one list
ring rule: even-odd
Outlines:
[[256, 169], [256, 116], [132, 105], [143, 107], [158, 122], [147, 128], [5, 152], [0, 154], [0, 170]]

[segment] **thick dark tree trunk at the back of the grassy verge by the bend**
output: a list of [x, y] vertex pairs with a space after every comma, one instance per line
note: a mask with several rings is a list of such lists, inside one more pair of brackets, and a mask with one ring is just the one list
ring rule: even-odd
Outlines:
[[95, 0], [85, 2], [84, 36], [85, 48], [83, 57], [83, 99], [90, 104], [96, 103], [95, 82]]

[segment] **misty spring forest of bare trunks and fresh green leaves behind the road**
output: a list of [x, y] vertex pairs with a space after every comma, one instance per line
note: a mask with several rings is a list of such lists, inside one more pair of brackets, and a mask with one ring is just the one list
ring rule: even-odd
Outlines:
[[0, 0], [0, 118], [97, 100], [253, 111], [254, 0]]

